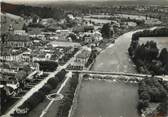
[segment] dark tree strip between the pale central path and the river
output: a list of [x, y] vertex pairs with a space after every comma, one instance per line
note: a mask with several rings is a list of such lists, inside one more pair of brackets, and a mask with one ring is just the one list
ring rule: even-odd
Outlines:
[[77, 73], [73, 74], [72, 78], [67, 84], [68, 87], [66, 91], [64, 91], [65, 92], [64, 98], [63, 100], [61, 100], [61, 103], [57, 112], [57, 117], [68, 117], [69, 110], [72, 106], [74, 93], [78, 85], [78, 78], [79, 78], [79, 74]]

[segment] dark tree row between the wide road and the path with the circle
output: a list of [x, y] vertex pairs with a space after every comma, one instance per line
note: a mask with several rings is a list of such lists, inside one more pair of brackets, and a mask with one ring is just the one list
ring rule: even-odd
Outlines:
[[13, 116], [23, 116], [25, 117], [32, 109], [34, 109], [39, 103], [45, 99], [45, 95], [55, 89], [60, 82], [65, 79], [66, 71], [63, 69], [58, 72], [55, 77], [50, 78], [47, 83], [35, 92], [30, 98], [28, 98], [20, 107], [19, 110], [15, 111]]

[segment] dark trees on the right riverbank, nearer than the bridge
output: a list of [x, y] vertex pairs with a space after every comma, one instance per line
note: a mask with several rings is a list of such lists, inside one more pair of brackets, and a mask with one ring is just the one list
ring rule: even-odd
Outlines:
[[[142, 80], [139, 83], [138, 89], [138, 111], [145, 110], [151, 102], [163, 103], [165, 100], [167, 100], [168, 89], [164, 86], [166, 83], [167, 82], [163, 81], [162, 79], [156, 78], [145, 78]], [[166, 114], [166, 112], [163, 110], [163, 106], [161, 105], [159, 107], [159, 111]]]

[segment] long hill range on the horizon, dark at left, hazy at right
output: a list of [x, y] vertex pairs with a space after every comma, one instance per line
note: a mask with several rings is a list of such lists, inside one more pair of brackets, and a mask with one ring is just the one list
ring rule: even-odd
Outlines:
[[[39, 0], [37, 0], [39, 1]], [[49, 0], [51, 1], [51, 0]], [[66, 13], [77, 12], [77, 10], [88, 11], [93, 7], [111, 7], [112, 5], [167, 5], [167, 0], [60, 0], [54, 2], [37, 2], [30, 6], [26, 4], [11, 4], [11, 3], [1, 3], [1, 11], [18, 16], [33, 16], [38, 15], [41, 18], [55, 18], [60, 19], [65, 16]], [[166, 2], [167, 1], [167, 2]], [[36, 6], [38, 5], [38, 6]]]

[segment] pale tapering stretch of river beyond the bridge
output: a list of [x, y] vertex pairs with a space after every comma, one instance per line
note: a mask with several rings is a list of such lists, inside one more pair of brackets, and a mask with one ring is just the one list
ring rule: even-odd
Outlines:
[[96, 58], [92, 70], [136, 73], [135, 65], [128, 55], [132, 34], [133, 32], [125, 33], [115, 41], [114, 45], [102, 51]]

